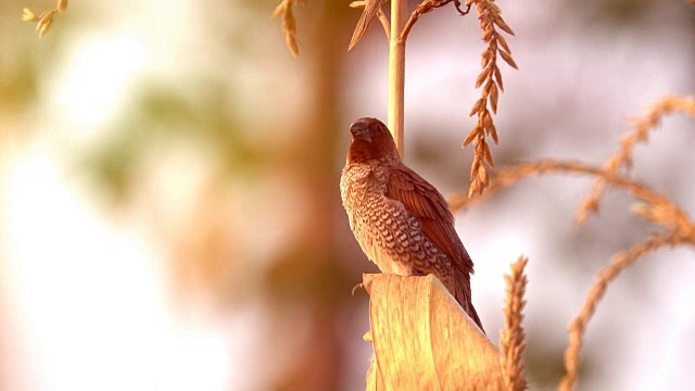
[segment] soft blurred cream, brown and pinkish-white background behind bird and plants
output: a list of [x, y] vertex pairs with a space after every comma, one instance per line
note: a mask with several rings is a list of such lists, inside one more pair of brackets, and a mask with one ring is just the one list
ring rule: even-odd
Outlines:
[[[0, 3], [0, 390], [365, 388], [368, 298], [350, 290], [377, 269], [338, 184], [350, 123], [386, 121], [388, 46], [374, 25], [346, 52], [349, 2], [296, 8], [298, 59], [279, 0], [73, 1], [41, 39], [22, 9], [52, 2]], [[496, 165], [598, 164], [629, 115], [695, 90], [685, 0], [498, 4], [519, 71], [502, 65]], [[483, 49], [453, 5], [409, 36], [406, 162], [446, 195], [468, 189]], [[691, 215], [693, 128], [666, 119], [633, 168]], [[616, 191], [576, 226], [591, 185], [530, 179], [456, 215], [495, 343], [503, 274], [530, 257], [532, 390], [557, 387], [599, 268], [655, 229]], [[658, 252], [609, 287], [579, 389], [692, 387], [693, 257]]]

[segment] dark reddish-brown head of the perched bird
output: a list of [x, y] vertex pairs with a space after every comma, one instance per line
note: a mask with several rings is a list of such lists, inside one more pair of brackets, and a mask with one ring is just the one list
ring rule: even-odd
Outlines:
[[401, 161], [389, 128], [377, 118], [364, 117], [350, 125], [352, 143], [348, 163], [397, 163]]

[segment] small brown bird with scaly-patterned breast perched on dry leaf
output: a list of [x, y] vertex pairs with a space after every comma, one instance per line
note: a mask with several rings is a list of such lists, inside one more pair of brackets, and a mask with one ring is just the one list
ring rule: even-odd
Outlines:
[[434, 275], [484, 332], [471, 302], [473, 263], [444, 197], [403, 164], [381, 121], [359, 118], [350, 133], [340, 193], [364, 253], [382, 273]]

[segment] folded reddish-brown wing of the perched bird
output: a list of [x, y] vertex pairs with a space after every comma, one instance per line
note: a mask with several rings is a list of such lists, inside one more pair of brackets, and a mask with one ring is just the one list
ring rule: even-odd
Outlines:
[[454, 228], [446, 200], [425, 178], [406, 166], [393, 167], [387, 182], [388, 198], [400, 201], [422, 224], [425, 234], [454, 263], [472, 272], [472, 262]]

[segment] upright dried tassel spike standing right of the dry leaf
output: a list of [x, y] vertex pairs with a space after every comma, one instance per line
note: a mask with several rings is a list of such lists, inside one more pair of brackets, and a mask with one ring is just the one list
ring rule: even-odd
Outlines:
[[507, 283], [507, 294], [504, 301], [504, 329], [500, 337], [500, 353], [502, 354], [500, 364], [506, 389], [510, 391], [522, 391], [528, 388], [521, 361], [521, 354], [526, 348], [526, 333], [521, 326], [527, 285], [523, 268], [528, 261], [525, 256], [519, 257], [511, 265], [511, 274], [504, 276]]

